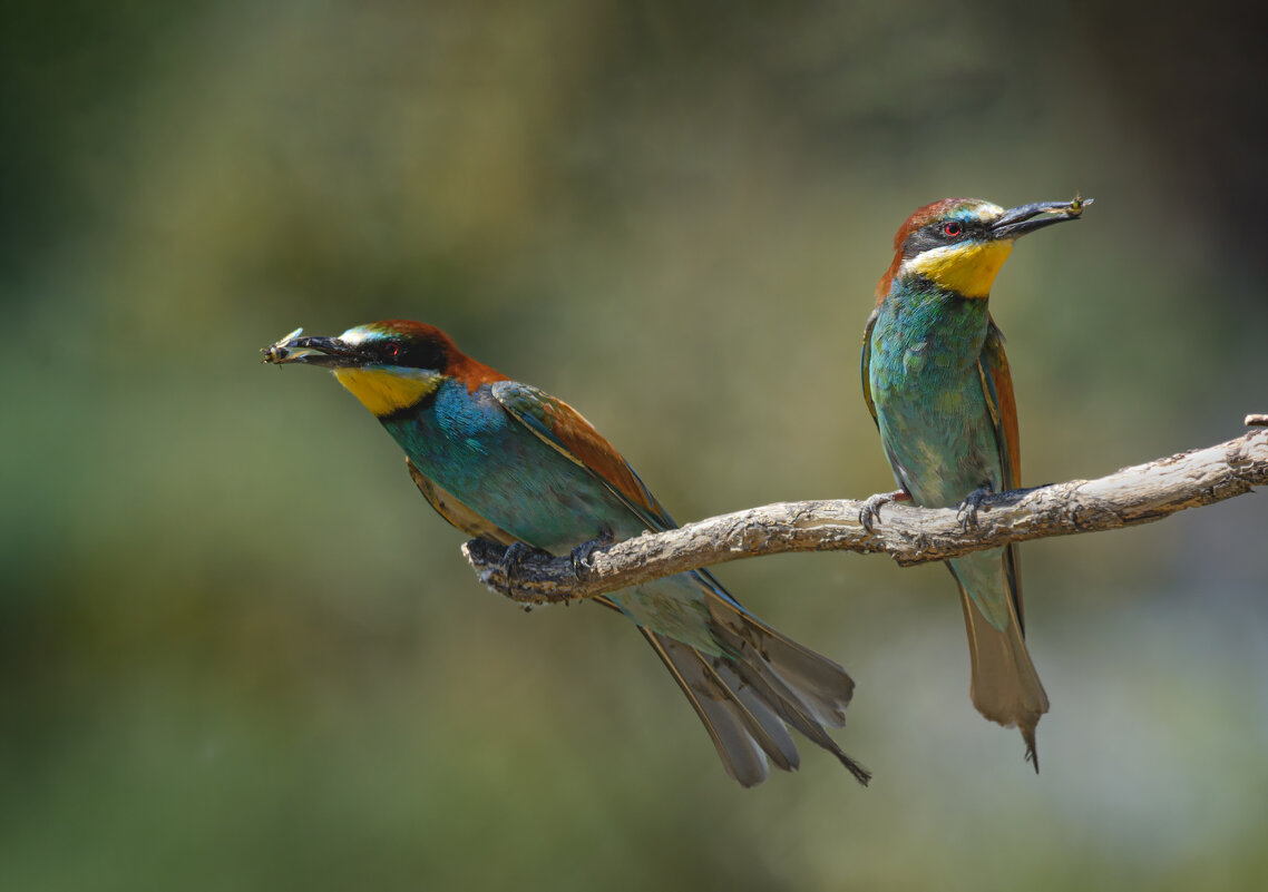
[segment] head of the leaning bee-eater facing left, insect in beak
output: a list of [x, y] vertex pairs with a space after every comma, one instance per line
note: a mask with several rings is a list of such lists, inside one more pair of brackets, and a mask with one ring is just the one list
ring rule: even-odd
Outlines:
[[464, 355], [448, 334], [422, 322], [387, 319], [349, 328], [339, 337], [308, 337], [297, 328], [265, 347], [265, 362], [317, 365], [378, 418], [410, 411], [446, 379], [472, 390], [503, 375]]

